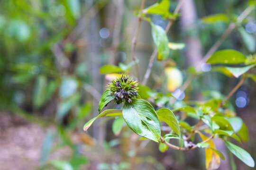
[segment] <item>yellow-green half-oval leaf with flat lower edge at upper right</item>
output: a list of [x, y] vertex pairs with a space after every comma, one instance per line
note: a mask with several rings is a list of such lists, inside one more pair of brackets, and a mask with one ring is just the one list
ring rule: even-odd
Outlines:
[[235, 50], [217, 51], [207, 60], [210, 64], [239, 64], [245, 61], [244, 54]]

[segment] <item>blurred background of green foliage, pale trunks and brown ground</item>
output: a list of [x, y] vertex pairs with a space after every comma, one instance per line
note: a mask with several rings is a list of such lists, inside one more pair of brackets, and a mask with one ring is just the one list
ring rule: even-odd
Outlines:
[[[170, 42], [184, 43], [185, 47], [170, 51], [168, 58], [172, 59], [172, 67], [176, 65], [175, 69], [164, 70], [166, 62], [154, 63], [147, 85], [157, 92], [175, 88], [171, 84], [177, 77], [163, 78], [170, 71], [177, 71], [179, 82], [184, 81], [193, 70], [190, 67], [195, 66], [250, 3], [247, 0], [187, 1], [190, 7], [184, 5], [181, 19], [174, 22], [168, 34]], [[146, 0], [145, 6], [155, 2]], [[170, 1], [171, 12], [177, 3], [177, 0]], [[122, 70], [130, 69], [136, 75], [129, 56], [139, 6], [137, 0], [0, 1], [2, 170], [13, 169], [14, 165], [17, 170], [204, 169], [202, 151], [160, 153], [156, 143], [138, 141], [127, 127], [114, 131], [116, 137], [111, 121], [96, 122], [89, 134], [82, 131], [84, 122], [98, 114], [98, 102], [108, 81], [100, 74], [101, 66], [122, 63], [122, 67], [119, 64]], [[212, 14], [223, 14], [219, 16], [220, 22], [214, 18], [201, 19]], [[254, 54], [255, 16], [255, 11], [251, 12], [219, 50]], [[151, 20], [163, 28], [167, 25], [167, 20], [159, 15], [152, 15]], [[140, 77], [146, 72], [153, 50], [150, 24], [143, 21], [136, 51]], [[191, 102], [202, 99], [203, 91], [218, 98], [219, 93], [229, 93], [237, 82], [216, 72], [205, 72], [192, 81], [183, 98]], [[251, 151], [253, 158], [256, 158], [255, 89], [255, 82], [249, 79], [231, 100], [232, 110], [248, 126], [251, 137], [243, 148]], [[166, 102], [168, 97], [162, 96], [157, 102]], [[176, 104], [182, 105], [179, 101]], [[189, 121], [193, 125], [193, 120]], [[113, 126], [122, 127], [122, 123], [116, 119]], [[221, 144], [216, 145], [221, 149]], [[236, 164], [238, 170], [249, 170], [240, 161]], [[225, 161], [220, 169], [230, 167], [229, 161]]]

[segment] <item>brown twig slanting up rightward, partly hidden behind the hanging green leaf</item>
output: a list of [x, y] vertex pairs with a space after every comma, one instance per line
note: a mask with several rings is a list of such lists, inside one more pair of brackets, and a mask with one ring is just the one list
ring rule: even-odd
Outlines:
[[[177, 7], [176, 7], [175, 10], [174, 10], [174, 15], [178, 14], [178, 12], [179, 12], [179, 10], [180, 10], [180, 8], [181, 8], [181, 6], [182, 6], [183, 1], [184, 1], [184, 0], [180, 0], [180, 1], [179, 1]], [[175, 20], [175, 19], [170, 19], [170, 20], [169, 20], [169, 22], [168, 22], [168, 24], [167, 24], [167, 26], [166, 26], [166, 28], [165, 28], [165, 33], [166, 33], [166, 34], [169, 32], [171, 26], [172, 26], [173, 23], [174, 23], [174, 20]], [[154, 60], [155, 60], [156, 55], [157, 55], [157, 49], [155, 48], [155, 50], [153, 51], [153, 53], [152, 53], [152, 55], [151, 55], [151, 57], [150, 57], [150, 59], [149, 59], [149, 63], [148, 63], [148, 66], [147, 66], [147, 69], [146, 69], [146, 73], [145, 73], [144, 78], [143, 78], [143, 81], [142, 81], [142, 85], [146, 85], [146, 83], [147, 83], [147, 80], [148, 80], [148, 78], [149, 78], [149, 76], [150, 76], [150, 73], [151, 73], [151, 70], [152, 70], [153, 63], [154, 63]]]

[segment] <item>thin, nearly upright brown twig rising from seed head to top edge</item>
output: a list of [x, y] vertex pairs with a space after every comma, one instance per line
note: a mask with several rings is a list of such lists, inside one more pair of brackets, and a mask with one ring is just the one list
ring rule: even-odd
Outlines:
[[[136, 61], [137, 57], [135, 56], [135, 49], [136, 49], [136, 44], [137, 44], [137, 38], [138, 38], [138, 34], [139, 34], [139, 30], [140, 30], [140, 26], [141, 26], [141, 15], [142, 15], [142, 10], [144, 8], [145, 5], [145, 0], [141, 0], [141, 5], [140, 5], [140, 10], [139, 10], [139, 17], [138, 17], [138, 24], [137, 24], [137, 28], [136, 28], [136, 33], [134, 38], [132, 39], [132, 46], [131, 46], [131, 58]], [[136, 68], [136, 72], [137, 72], [137, 78], [138, 80], [139, 78], [139, 68], [138, 68], [138, 63], [136, 62], [135, 64], [135, 68]]]

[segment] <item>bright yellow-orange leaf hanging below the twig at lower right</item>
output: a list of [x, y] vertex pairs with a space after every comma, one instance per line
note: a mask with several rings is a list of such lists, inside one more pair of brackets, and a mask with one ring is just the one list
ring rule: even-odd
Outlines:
[[[199, 132], [199, 135], [201, 136], [202, 140], [205, 141], [209, 137], [204, 136]], [[212, 140], [209, 140], [206, 142], [209, 144], [209, 148], [205, 148], [205, 167], [207, 170], [216, 170], [219, 168], [220, 165], [220, 158], [217, 153], [215, 153], [212, 149], [216, 149], [215, 144], [213, 143]]]

